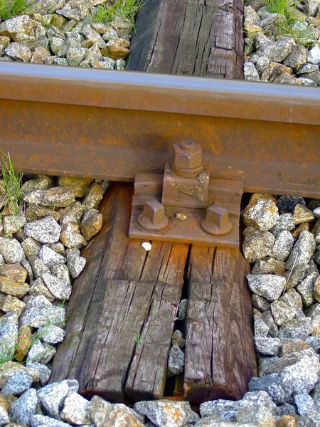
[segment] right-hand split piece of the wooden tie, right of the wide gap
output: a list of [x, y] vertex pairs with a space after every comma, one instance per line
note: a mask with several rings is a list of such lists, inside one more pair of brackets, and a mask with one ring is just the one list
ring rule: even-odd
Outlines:
[[191, 249], [184, 379], [189, 401], [240, 399], [256, 374], [249, 271], [238, 249]]

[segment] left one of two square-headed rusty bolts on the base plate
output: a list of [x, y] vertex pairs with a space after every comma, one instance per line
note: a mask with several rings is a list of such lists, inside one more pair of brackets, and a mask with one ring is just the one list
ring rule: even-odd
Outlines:
[[149, 231], [159, 231], [166, 228], [169, 218], [164, 212], [164, 205], [156, 199], [147, 201], [142, 214], [138, 217], [139, 226]]

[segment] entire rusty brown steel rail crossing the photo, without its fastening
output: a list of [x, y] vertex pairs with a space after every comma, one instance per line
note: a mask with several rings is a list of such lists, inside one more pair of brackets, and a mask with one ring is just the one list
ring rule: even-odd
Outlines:
[[133, 181], [174, 142], [244, 191], [319, 196], [319, 88], [0, 63], [0, 148], [25, 172]]

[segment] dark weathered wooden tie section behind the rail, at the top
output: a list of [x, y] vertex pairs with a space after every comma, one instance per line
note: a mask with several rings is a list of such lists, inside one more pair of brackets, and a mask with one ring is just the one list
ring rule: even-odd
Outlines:
[[242, 16], [243, 0], [149, 0], [128, 69], [242, 79]]

